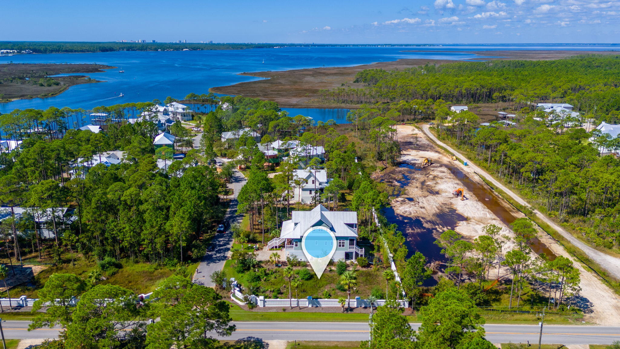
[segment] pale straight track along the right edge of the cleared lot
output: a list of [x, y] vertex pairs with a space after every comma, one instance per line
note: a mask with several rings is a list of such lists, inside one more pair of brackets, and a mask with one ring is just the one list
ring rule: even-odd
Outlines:
[[[518, 196], [517, 194], [513, 193], [513, 191], [508, 189], [502, 183], [499, 183], [497, 181], [497, 179], [493, 178], [489, 173], [487, 173], [486, 171], [482, 170], [482, 168], [479, 168], [478, 166], [474, 165], [471, 161], [467, 160], [467, 158], [465, 156], [463, 156], [463, 154], [461, 154], [459, 152], [456, 152], [456, 150], [454, 150], [451, 147], [448, 147], [448, 145], [446, 145], [445, 143], [443, 143], [440, 140], [438, 140], [437, 137], [435, 137], [435, 135], [433, 135], [432, 132], [430, 132], [430, 130], [428, 130], [428, 128], [429, 128], [428, 125], [422, 125], [422, 130], [423, 130], [425, 135], [430, 137], [436, 143], [440, 144], [442, 147], [446, 148], [449, 152], [454, 153], [454, 155], [456, 155], [459, 158], [461, 158], [461, 160], [467, 161], [468, 167], [471, 168], [471, 170], [475, 171], [480, 176], [486, 178], [488, 181], [490, 181], [495, 186], [497, 186], [497, 188], [502, 189], [506, 194], [510, 195], [513, 199], [515, 199], [516, 202], [520, 203], [523, 206], [528, 206], [528, 207], [531, 206], [531, 205], [528, 204], [528, 202], [526, 202], [525, 200], [521, 199], [520, 196]], [[557, 225], [554, 221], [549, 219], [549, 217], [547, 217], [546, 215], [542, 214], [538, 210], [534, 210], [534, 214], [536, 214], [541, 220], [543, 220], [544, 222], [549, 224], [553, 229], [555, 229], [557, 232], [559, 232], [564, 238], [569, 240], [570, 243], [572, 243], [577, 248], [582, 250], [591, 260], [593, 260], [596, 263], [598, 263], [598, 265], [600, 265], [601, 268], [603, 268], [604, 270], [607, 270], [610, 274], [613, 274], [616, 278], [620, 278], [620, 258], [617, 258], [617, 257], [614, 257], [614, 256], [610, 256], [610, 255], [608, 255], [606, 253], [603, 253], [603, 252], [600, 252], [600, 251], [596, 250], [595, 248], [591, 248], [585, 242], [582, 242], [582, 240], [579, 240], [578, 238], [573, 237], [573, 235], [571, 233], [569, 233], [566, 230], [564, 230], [562, 227]]]

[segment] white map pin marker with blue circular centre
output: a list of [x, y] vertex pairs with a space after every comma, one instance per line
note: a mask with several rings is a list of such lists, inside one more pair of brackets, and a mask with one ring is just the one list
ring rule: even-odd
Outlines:
[[336, 237], [325, 227], [311, 227], [301, 238], [301, 250], [308, 258], [317, 278], [325, 271], [329, 260], [336, 252]]

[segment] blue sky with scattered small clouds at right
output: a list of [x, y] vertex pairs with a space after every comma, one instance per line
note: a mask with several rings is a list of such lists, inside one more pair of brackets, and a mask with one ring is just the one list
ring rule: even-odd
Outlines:
[[614, 43], [620, 0], [2, 1], [0, 40]]

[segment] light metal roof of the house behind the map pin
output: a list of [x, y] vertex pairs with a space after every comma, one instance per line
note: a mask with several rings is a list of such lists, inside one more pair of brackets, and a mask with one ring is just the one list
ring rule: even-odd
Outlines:
[[357, 237], [355, 229], [347, 224], [357, 224], [357, 212], [329, 211], [318, 205], [312, 211], [293, 211], [291, 220], [282, 223], [281, 238], [301, 238], [310, 227], [323, 225], [336, 237]]

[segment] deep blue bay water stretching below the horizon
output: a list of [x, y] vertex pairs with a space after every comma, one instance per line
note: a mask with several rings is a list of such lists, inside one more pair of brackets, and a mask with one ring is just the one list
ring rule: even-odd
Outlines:
[[[208, 93], [225, 86], [261, 78], [237, 75], [244, 71], [280, 71], [321, 66], [354, 66], [399, 58], [471, 60], [477, 50], [618, 50], [617, 45], [443, 45], [435, 47], [286, 47], [250, 50], [53, 53], [0, 57], [0, 63], [99, 63], [118, 68], [89, 73], [103, 83], [72, 86], [59, 96], [0, 103], [0, 112], [50, 106], [83, 108], [125, 102], [178, 99], [188, 93]], [[403, 52], [419, 50], [420, 52]], [[264, 60], [265, 63], [262, 63]], [[124, 70], [125, 73], [119, 73]], [[78, 74], [79, 75], [79, 74]], [[125, 96], [118, 97], [120, 93]], [[283, 108], [315, 121], [346, 122], [347, 109]]]

